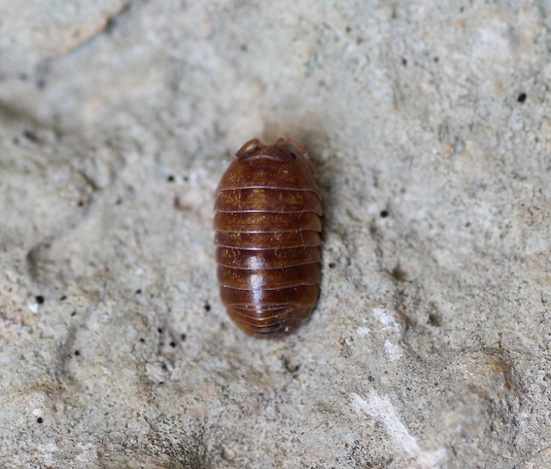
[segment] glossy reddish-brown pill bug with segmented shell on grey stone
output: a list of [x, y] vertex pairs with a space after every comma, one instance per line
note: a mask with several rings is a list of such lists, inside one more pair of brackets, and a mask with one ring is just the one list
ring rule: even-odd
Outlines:
[[244, 144], [214, 205], [220, 295], [246, 334], [281, 339], [319, 296], [321, 194], [307, 151], [293, 139]]

